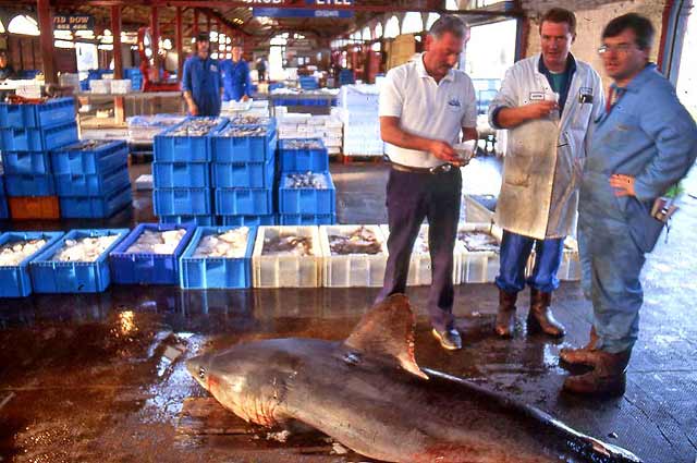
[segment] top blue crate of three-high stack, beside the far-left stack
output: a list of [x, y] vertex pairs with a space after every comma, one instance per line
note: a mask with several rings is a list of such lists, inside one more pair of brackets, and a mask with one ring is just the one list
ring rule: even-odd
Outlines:
[[53, 173], [95, 174], [111, 172], [129, 162], [129, 146], [123, 141], [84, 139], [51, 153]]

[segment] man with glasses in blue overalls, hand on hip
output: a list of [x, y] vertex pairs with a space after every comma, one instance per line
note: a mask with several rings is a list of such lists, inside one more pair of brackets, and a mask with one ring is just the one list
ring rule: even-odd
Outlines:
[[649, 20], [629, 13], [606, 26], [598, 50], [614, 82], [586, 160], [578, 220], [594, 329], [588, 345], [560, 354], [594, 369], [566, 378], [573, 393], [624, 393], [644, 296], [639, 273], [665, 224], [653, 205], [697, 157], [697, 126], [649, 62], [652, 42]]

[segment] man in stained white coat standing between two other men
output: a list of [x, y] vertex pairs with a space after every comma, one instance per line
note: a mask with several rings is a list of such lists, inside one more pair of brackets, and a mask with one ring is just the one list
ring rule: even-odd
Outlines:
[[[492, 127], [509, 142], [496, 221], [503, 229], [496, 332], [513, 334], [518, 293], [530, 287], [528, 332], [561, 338], [550, 307], [559, 288], [564, 239], [576, 228], [580, 172], [592, 122], [603, 107], [600, 76], [576, 60], [576, 17], [553, 8], [539, 26], [542, 51], [506, 71], [489, 106]], [[535, 265], [525, 278], [535, 246]]]

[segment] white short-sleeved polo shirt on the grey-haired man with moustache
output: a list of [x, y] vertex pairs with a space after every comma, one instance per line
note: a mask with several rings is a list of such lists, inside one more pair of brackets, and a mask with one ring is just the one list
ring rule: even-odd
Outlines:
[[[388, 72], [380, 88], [379, 115], [400, 118], [404, 131], [452, 145], [458, 142], [462, 127], [477, 126], [475, 87], [467, 74], [454, 69], [437, 84], [419, 54]], [[443, 163], [430, 153], [389, 143], [386, 151], [403, 166], [429, 168]]]

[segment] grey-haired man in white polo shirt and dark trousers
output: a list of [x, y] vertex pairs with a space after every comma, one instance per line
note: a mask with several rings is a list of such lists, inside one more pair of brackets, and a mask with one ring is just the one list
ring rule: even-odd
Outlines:
[[426, 52], [390, 70], [380, 89], [380, 133], [392, 169], [387, 185], [389, 258], [378, 302], [406, 290], [414, 241], [429, 223], [432, 284], [428, 310], [433, 336], [462, 348], [452, 315], [453, 247], [460, 219], [462, 160], [452, 145], [477, 138], [472, 81], [454, 70], [467, 39], [458, 17], [441, 16], [426, 37]]

